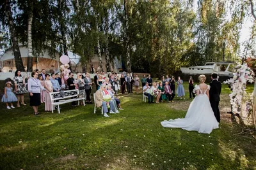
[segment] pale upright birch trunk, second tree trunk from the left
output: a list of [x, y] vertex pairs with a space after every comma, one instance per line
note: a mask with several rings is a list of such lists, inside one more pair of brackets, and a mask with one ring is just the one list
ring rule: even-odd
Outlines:
[[[33, 9], [33, 8], [32, 8]], [[27, 61], [27, 72], [33, 71], [33, 55], [32, 55], [32, 26], [33, 21], [33, 11], [29, 12], [29, 19], [28, 19], [28, 61]]]

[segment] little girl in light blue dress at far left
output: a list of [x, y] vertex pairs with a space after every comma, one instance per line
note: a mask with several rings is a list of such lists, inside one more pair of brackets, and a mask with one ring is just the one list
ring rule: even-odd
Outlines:
[[[8, 110], [10, 110], [11, 108], [14, 109], [12, 103], [17, 102], [18, 99], [15, 96], [15, 94], [12, 92], [12, 82], [8, 81], [8, 82], [5, 83], [5, 85], [6, 85], [6, 87], [4, 88], [4, 96], [2, 97], [2, 102], [6, 103], [6, 107], [7, 107]], [[8, 105], [8, 103], [11, 104], [11, 108]]]

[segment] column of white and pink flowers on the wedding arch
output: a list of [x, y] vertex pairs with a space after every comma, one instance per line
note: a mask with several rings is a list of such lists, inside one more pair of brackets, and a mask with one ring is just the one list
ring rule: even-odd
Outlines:
[[253, 82], [254, 73], [252, 69], [250, 69], [250, 67], [247, 66], [247, 64], [239, 64], [235, 67], [233, 75], [233, 78], [230, 78], [229, 80], [226, 80], [223, 83], [231, 85], [233, 90], [229, 96], [230, 104], [232, 105], [232, 112], [234, 114], [240, 114], [240, 106], [243, 99], [243, 95], [246, 94], [246, 83]]

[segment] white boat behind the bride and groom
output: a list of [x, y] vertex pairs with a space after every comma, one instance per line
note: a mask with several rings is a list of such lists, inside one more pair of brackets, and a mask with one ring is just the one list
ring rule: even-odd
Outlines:
[[218, 73], [220, 76], [233, 76], [236, 62], [206, 62], [204, 66], [180, 67], [183, 74], [212, 74]]

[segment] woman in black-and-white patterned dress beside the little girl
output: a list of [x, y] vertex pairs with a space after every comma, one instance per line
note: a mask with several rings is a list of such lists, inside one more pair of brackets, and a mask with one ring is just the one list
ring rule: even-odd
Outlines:
[[25, 86], [25, 77], [22, 78], [21, 73], [19, 70], [15, 71], [15, 76], [13, 78], [14, 85], [15, 85], [15, 93], [17, 95], [17, 107], [20, 107], [20, 100], [21, 104], [26, 106], [27, 104], [24, 103], [24, 94], [28, 93], [28, 90]]

